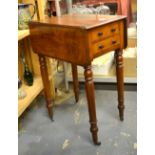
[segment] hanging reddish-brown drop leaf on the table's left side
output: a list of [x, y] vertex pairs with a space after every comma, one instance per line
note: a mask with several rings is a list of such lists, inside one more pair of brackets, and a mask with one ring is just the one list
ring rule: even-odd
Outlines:
[[90, 63], [85, 29], [31, 23], [30, 39], [38, 54], [78, 65]]

